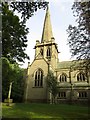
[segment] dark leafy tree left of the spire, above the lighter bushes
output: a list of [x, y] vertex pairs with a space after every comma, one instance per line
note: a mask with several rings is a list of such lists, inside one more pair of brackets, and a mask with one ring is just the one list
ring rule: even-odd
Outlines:
[[2, 19], [2, 56], [10, 62], [24, 62], [25, 58], [29, 59], [25, 53], [28, 28], [9, 10], [7, 4], [2, 4]]

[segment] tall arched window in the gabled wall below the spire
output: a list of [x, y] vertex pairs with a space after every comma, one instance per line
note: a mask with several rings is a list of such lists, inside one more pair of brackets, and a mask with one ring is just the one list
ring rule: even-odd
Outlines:
[[35, 72], [35, 87], [42, 87], [43, 86], [43, 72], [41, 69], [38, 69]]

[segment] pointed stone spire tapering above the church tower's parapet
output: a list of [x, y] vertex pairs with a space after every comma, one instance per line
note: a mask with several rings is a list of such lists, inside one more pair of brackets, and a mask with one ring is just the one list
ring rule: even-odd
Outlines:
[[51, 40], [51, 38], [53, 38], [53, 33], [52, 33], [52, 26], [50, 20], [49, 7], [47, 6], [41, 42], [52, 41], [53, 39]]

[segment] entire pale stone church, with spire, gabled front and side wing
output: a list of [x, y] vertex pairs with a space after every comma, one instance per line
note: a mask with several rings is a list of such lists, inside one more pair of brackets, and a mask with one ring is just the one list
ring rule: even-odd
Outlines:
[[[49, 69], [57, 77], [59, 92], [57, 102], [88, 101], [90, 71], [81, 67], [82, 60], [62, 61], [58, 59], [58, 46], [53, 37], [49, 8], [46, 10], [41, 41], [36, 40], [35, 57], [28, 64], [25, 101], [47, 102], [50, 94], [47, 91], [45, 77]], [[72, 93], [72, 95], [71, 95]]]

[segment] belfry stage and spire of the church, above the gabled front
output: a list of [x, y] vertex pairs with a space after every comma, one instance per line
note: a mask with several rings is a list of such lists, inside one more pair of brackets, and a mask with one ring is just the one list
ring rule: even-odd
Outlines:
[[45, 59], [54, 70], [57, 67], [58, 53], [57, 44], [52, 32], [49, 7], [47, 7], [41, 42], [37, 40], [35, 45], [35, 59]]

